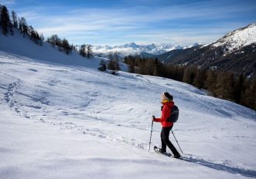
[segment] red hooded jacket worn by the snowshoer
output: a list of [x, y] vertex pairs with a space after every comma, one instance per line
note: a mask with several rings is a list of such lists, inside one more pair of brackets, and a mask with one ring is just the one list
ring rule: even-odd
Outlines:
[[162, 103], [162, 117], [161, 118], [155, 118], [155, 122], [161, 122], [162, 127], [172, 127], [173, 123], [166, 121], [171, 113], [172, 113], [172, 106], [174, 106], [174, 103], [172, 101], [168, 101], [166, 103]]

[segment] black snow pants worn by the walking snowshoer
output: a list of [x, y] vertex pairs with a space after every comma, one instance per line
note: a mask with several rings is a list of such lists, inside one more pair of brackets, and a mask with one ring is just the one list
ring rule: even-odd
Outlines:
[[162, 142], [162, 152], [166, 152], [166, 145], [172, 151], [172, 154], [178, 155], [179, 152], [176, 148], [172, 145], [171, 141], [169, 140], [169, 133], [172, 130], [172, 127], [162, 127], [161, 131], [161, 142]]

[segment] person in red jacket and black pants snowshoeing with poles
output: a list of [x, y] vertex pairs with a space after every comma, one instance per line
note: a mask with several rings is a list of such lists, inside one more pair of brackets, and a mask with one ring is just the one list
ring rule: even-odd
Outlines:
[[176, 147], [174, 147], [169, 140], [169, 133], [170, 130], [172, 130], [173, 123], [167, 121], [167, 119], [170, 117], [172, 113], [172, 106], [174, 106], [173, 103], [173, 96], [170, 95], [169, 93], [162, 93], [161, 94], [161, 99], [162, 99], [162, 117], [160, 118], [155, 118], [154, 116], [152, 117], [152, 120], [154, 122], [160, 122], [162, 124], [162, 131], [161, 131], [161, 143], [162, 143], [162, 148], [159, 149], [159, 152], [164, 154], [166, 153], [166, 146], [169, 147], [169, 149], [172, 151], [173, 157], [179, 158], [180, 154], [176, 150]]

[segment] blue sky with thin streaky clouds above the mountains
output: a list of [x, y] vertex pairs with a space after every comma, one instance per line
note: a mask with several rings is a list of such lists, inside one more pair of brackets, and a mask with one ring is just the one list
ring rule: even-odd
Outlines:
[[0, 0], [45, 36], [73, 44], [210, 43], [256, 22], [251, 0]]

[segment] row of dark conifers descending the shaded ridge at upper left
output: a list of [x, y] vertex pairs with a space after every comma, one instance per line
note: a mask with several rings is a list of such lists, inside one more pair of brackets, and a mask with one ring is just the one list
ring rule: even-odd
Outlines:
[[[32, 25], [28, 25], [24, 17], [19, 18], [14, 11], [12, 11], [10, 15], [9, 10], [5, 5], [0, 5], [0, 26], [3, 35], [14, 35], [13, 29], [19, 29], [19, 32], [24, 37], [29, 36], [29, 39], [39, 46], [43, 46], [43, 42], [48, 42], [51, 44], [51, 46], [56, 46], [60, 52], [65, 52], [66, 54], [70, 54], [73, 51], [78, 51], [76, 46], [73, 46], [73, 44], [70, 45], [70, 42], [68, 42], [67, 39], [60, 39], [60, 37], [56, 34], [50, 35], [45, 40], [43, 33], [39, 34], [39, 32], [37, 32]], [[79, 53], [81, 56], [90, 58], [93, 56], [92, 46], [85, 44], [80, 46]]]

